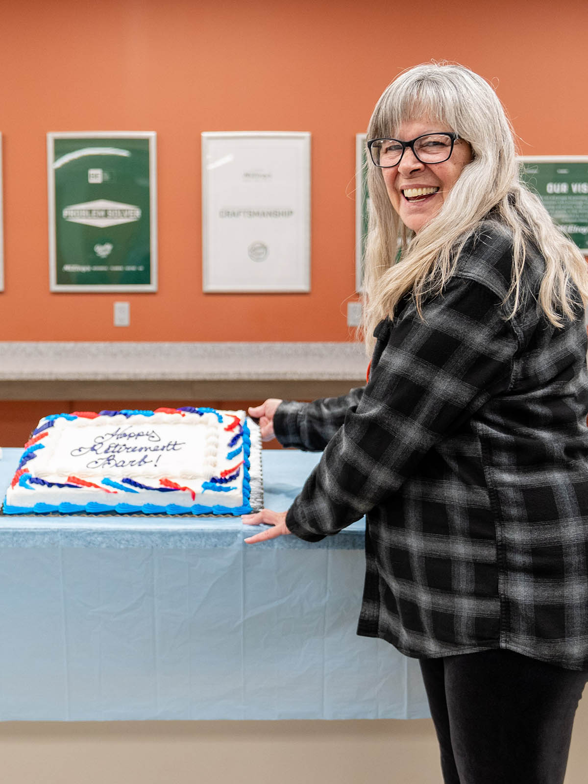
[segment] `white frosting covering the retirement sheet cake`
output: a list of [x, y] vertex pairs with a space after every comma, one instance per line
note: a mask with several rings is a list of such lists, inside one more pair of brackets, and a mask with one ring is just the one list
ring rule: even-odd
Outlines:
[[[125, 417], [97, 416], [94, 419], [78, 417], [54, 420], [46, 431], [34, 458], [25, 464], [31, 477], [47, 482], [67, 484], [68, 477], [92, 482], [99, 487], [57, 488], [46, 485], [23, 487], [16, 484], [9, 488], [6, 503], [9, 506], [34, 506], [35, 503], [58, 505], [69, 502], [84, 505], [90, 502], [116, 506], [129, 503], [143, 506], [146, 503], [166, 506], [241, 506], [243, 502], [244, 466], [240, 466], [238, 477], [221, 485], [227, 490], [218, 492], [203, 489], [202, 484], [212, 477], [220, 477], [223, 471], [237, 466], [243, 459], [242, 451], [227, 459], [227, 455], [243, 444], [239, 438], [234, 447], [229, 446], [236, 429], [225, 430], [238, 416], [240, 424], [245, 421], [245, 412], [219, 412], [219, 422], [212, 412], [203, 415], [185, 412], [183, 415], [156, 413], [153, 416], [136, 414]], [[47, 420], [42, 419], [38, 427]], [[252, 430], [251, 477], [261, 481], [261, 454], [259, 428], [249, 422]], [[165, 486], [165, 481], [182, 488], [176, 492], [160, 492], [157, 489], [139, 489], [129, 486], [129, 491], [115, 488], [104, 479], [118, 485], [125, 478], [150, 488]], [[162, 484], [161, 480], [164, 480]], [[72, 480], [70, 480], [72, 481]], [[217, 485], [218, 486], [218, 485]], [[194, 492], [194, 497], [192, 495]]]

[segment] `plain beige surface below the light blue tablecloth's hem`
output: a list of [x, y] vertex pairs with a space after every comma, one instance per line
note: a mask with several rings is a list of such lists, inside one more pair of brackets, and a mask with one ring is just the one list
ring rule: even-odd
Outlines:
[[[588, 692], [565, 784], [586, 784]], [[6, 784], [441, 784], [428, 719], [0, 724]]]

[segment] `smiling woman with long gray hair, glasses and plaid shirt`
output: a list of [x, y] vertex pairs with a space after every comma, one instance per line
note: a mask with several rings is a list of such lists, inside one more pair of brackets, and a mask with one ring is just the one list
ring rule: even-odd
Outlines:
[[466, 68], [401, 74], [368, 149], [368, 383], [251, 409], [325, 452], [245, 541], [365, 514], [358, 633], [419, 659], [445, 782], [563, 782], [588, 678], [586, 263]]

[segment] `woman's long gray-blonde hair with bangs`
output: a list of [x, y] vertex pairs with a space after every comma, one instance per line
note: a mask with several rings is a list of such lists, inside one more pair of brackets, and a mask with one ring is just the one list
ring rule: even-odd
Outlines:
[[426, 296], [442, 291], [466, 239], [493, 209], [512, 231], [513, 275], [510, 318], [521, 306], [525, 241], [543, 253], [546, 270], [539, 307], [557, 327], [577, 318], [575, 283], [588, 300], [588, 267], [579, 249], [555, 226], [539, 197], [521, 183], [514, 135], [494, 90], [461, 65], [423, 64], [400, 74], [380, 97], [368, 126], [368, 140], [396, 137], [403, 122], [427, 118], [442, 123], [470, 143], [466, 164], [437, 215], [413, 234], [388, 198], [381, 169], [368, 156], [370, 197], [365, 253], [366, 301], [362, 329], [366, 348], [372, 332], [397, 302], [412, 291], [419, 312]]

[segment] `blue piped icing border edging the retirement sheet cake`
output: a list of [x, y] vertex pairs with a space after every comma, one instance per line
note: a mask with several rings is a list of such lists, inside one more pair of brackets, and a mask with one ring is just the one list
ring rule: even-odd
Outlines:
[[[186, 406], [183, 409], [184, 411], [191, 411], [194, 413], [204, 413], [204, 412], [214, 412], [216, 413], [217, 417], [220, 417], [220, 422], [222, 422], [222, 415], [216, 411], [215, 408], [208, 409], [208, 408], [200, 408], [194, 409]], [[115, 414], [123, 413], [123, 412], [100, 412], [101, 416], [115, 416]], [[129, 411], [127, 409], [125, 412], [125, 416], [131, 416], [132, 414], [148, 414], [150, 412], [143, 412], [143, 411]], [[153, 415], [154, 412], [151, 412]], [[42, 430], [47, 430], [49, 427], [53, 426], [53, 422], [55, 419], [59, 417], [64, 417], [65, 419], [78, 419], [77, 416], [73, 416], [71, 414], [52, 414], [50, 416], [45, 417], [45, 423], [43, 426], [39, 427], [37, 430], [34, 430], [34, 433], [40, 433]], [[175, 503], [169, 503], [165, 506], [159, 506], [158, 504], [143, 504], [143, 505], [136, 505], [131, 503], [118, 503], [116, 506], [107, 506], [107, 504], [98, 503], [96, 501], [91, 501], [85, 505], [82, 504], [75, 504], [69, 502], [62, 502], [60, 504], [49, 504], [49, 503], [35, 503], [34, 506], [10, 506], [6, 503], [6, 499], [4, 499], [4, 504], [2, 506], [2, 510], [4, 514], [83, 514], [84, 512], [88, 514], [100, 514], [100, 513], [112, 513], [113, 511], [118, 512], [118, 514], [229, 514], [233, 517], [239, 517], [241, 514], [249, 514], [252, 511], [251, 504], [249, 503], [249, 498], [251, 496], [251, 481], [250, 481], [250, 474], [249, 468], [251, 467], [251, 461], [249, 460], [249, 455], [251, 453], [251, 433], [249, 430], [249, 426], [247, 424], [247, 417], [245, 416], [245, 420], [241, 426], [242, 428], [242, 435], [243, 437], [243, 456], [245, 462], [243, 463], [243, 504], [242, 506], [223, 506], [221, 504], [213, 504], [212, 506], [203, 506], [201, 504], [193, 504], [192, 506], [180, 506]], [[36, 445], [34, 445], [36, 446]], [[24, 450], [23, 454], [21, 455], [21, 460], [25, 455], [31, 453], [33, 450], [31, 447]], [[34, 455], [31, 455], [33, 457]], [[158, 488], [159, 489], [159, 488]], [[227, 488], [228, 489], [228, 488]]]

